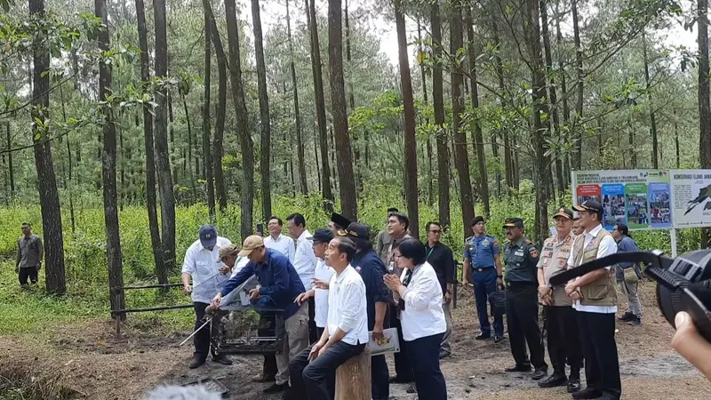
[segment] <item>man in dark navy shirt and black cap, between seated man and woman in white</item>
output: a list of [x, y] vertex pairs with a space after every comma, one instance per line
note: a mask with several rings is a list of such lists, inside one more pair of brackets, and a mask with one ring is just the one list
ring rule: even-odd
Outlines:
[[[363, 278], [365, 284], [365, 298], [368, 310], [368, 331], [373, 338], [382, 336], [383, 329], [389, 325], [387, 319], [387, 304], [390, 302], [391, 293], [383, 282], [387, 274], [385, 264], [380, 260], [378, 253], [372, 248], [368, 228], [358, 222], [348, 225], [348, 237], [356, 242], [356, 256], [351, 261], [351, 266]], [[387, 363], [385, 356], [371, 358], [371, 386], [373, 400], [387, 400], [390, 396]]]

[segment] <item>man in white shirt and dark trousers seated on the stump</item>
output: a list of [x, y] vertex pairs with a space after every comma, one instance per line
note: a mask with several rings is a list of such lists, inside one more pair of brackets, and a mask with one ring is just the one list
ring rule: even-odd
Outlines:
[[336, 237], [328, 245], [326, 265], [336, 271], [329, 283], [328, 321], [321, 340], [292, 358], [292, 388], [284, 399], [331, 400], [336, 369], [361, 354], [368, 343], [365, 284], [350, 266], [354, 255], [356, 244], [346, 237]]

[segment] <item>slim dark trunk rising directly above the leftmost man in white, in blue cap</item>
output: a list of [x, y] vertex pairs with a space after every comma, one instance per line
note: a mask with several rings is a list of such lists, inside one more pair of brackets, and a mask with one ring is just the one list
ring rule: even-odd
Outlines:
[[210, 146], [212, 133], [210, 132], [210, 85], [212, 84], [212, 44], [210, 32], [210, 0], [203, 0], [205, 19], [205, 73], [204, 73], [204, 99], [203, 99], [203, 171], [207, 182], [207, 210], [210, 222], [215, 223], [215, 186], [212, 180], [212, 150]]

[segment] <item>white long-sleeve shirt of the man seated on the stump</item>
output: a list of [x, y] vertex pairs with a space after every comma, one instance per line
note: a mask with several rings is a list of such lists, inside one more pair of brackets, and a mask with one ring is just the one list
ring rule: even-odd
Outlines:
[[365, 284], [360, 274], [350, 265], [340, 275], [333, 274], [331, 277], [328, 305], [329, 336], [340, 328], [346, 332], [346, 336], [341, 340], [349, 345], [368, 343]]

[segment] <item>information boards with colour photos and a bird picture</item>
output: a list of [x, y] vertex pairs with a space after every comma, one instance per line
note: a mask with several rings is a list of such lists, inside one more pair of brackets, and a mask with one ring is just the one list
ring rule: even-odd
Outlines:
[[711, 227], [711, 171], [575, 171], [573, 204], [603, 204], [603, 225], [630, 229]]

